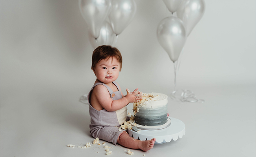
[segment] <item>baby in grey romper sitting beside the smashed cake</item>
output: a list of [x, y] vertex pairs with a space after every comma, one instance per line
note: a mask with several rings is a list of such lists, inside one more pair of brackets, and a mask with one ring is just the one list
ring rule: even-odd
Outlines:
[[96, 81], [87, 98], [91, 116], [90, 133], [99, 139], [120, 144], [127, 148], [148, 151], [153, 148], [156, 139], [140, 141], [130, 137], [126, 131], [119, 131], [116, 126], [129, 120], [126, 117], [130, 102], [141, 100], [138, 88], [133, 92], [126, 89], [122, 94], [121, 88], [115, 80], [122, 69], [120, 51], [112, 46], [99, 46], [93, 51], [91, 69], [96, 75]]

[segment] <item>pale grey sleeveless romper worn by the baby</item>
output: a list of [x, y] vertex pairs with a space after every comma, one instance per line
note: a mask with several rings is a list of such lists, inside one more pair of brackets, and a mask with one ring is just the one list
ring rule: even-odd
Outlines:
[[[118, 100], [122, 98], [122, 93], [119, 90], [119, 86], [116, 82], [112, 82], [115, 84], [117, 87], [118, 91], [113, 92], [113, 90], [106, 84], [98, 82], [93, 85], [91, 88], [91, 91], [93, 88], [97, 85], [103, 85], [108, 89], [109, 92], [109, 97], [111, 97], [113, 100]], [[116, 126], [122, 125], [126, 120], [130, 117], [126, 117], [127, 114], [127, 108], [124, 106], [120, 110], [117, 111], [107, 111], [105, 109], [103, 110], [96, 110], [93, 108], [90, 104], [90, 97], [91, 97], [91, 91], [89, 92], [87, 99], [89, 102], [89, 113], [91, 116], [91, 124], [89, 125], [90, 127], [90, 133], [91, 135], [96, 138], [98, 137], [99, 139], [112, 142], [113, 144], [117, 144], [117, 139], [122, 133], [122, 131], [119, 131], [119, 128]]]

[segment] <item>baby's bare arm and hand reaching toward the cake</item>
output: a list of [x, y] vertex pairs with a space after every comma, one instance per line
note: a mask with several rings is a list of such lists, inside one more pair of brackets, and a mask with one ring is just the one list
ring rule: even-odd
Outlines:
[[95, 86], [93, 90], [99, 104], [107, 111], [117, 111], [130, 102], [138, 102], [141, 100], [141, 95], [139, 91], [137, 91], [138, 89], [135, 89], [133, 92], [126, 89], [127, 95], [118, 100], [112, 100], [112, 98], [109, 97], [108, 89], [105, 86]]

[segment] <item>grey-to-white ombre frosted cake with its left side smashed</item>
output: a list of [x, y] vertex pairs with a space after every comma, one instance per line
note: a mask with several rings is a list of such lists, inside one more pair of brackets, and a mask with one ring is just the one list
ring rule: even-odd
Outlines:
[[167, 95], [144, 93], [139, 102], [134, 102], [134, 120], [143, 126], [159, 126], [167, 122]]

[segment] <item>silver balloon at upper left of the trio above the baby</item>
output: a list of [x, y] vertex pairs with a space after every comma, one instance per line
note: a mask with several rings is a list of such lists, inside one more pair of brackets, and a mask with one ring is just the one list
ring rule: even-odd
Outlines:
[[100, 35], [102, 23], [109, 14], [109, 0], [79, 0], [79, 9], [94, 38]]

